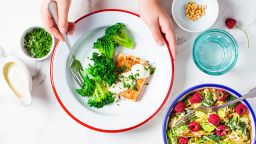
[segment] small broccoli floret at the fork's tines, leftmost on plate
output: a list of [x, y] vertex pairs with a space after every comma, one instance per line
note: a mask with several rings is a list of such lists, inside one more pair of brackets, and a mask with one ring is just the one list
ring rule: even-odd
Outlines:
[[84, 84], [80, 89], [76, 89], [81, 96], [91, 96], [95, 90], [95, 82], [90, 80], [87, 75], [84, 76]]

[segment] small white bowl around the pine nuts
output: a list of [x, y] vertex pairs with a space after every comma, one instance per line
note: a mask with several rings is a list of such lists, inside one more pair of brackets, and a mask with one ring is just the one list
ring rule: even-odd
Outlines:
[[[193, 1], [198, 5], [206, 5], [206, 12], [197, 21], [191, 21], [185, 16], [184, 6]], [[172, 15], [179, 27], [188, 32], [202, 32], [210, 28], [218, 18], [219, 5], [217, 0], [173, 0]]]

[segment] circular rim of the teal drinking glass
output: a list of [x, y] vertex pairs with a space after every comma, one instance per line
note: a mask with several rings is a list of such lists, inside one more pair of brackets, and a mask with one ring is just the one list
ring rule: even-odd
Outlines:
[[[196, 55], [197, 55], [196, 53], [198, 53], [198, 51], [197, 51], [198, 48], [196, 48], [196, 45], [198, 45], [199, 40], [202, 37], [204, 37], [205, 35], [207, 35], [209, 33], [212, 33], [212, 32], [221, 33], [221, 34], [227, 36], [230, 39], [230, 41], [232, 42], [232, 49], [234, 50], [234, 53], [235, 53], [235, 58], [234, 58], [233, 62], [226, 69], [224, 69], [222, 71], [217, 71], [217, 72], [208, 71], [207, 69], [202, 68], [202, 66], [199, 64], [200, 62], [199, 62], [198, 58], [196, 58]], [[202, 32], [194, 40], [193, 48], [192, 48], [192, 57], [193, 57], [193, 61], [196, 64], [196, 66], [202, 72], [204, 72], [206, 74], [209, 74], [209, 75], [214, 75], [214, 76], [223, 75], [223, 74], [227, 73], [228, 71], [230, 71], [235, 66], [235, 64], [236, 64], [236, 62], [238, 60], [238, 53], [239, 53], [239, 51], [238, 51], [238, 46], [237, 46], [236, 39], [229, 32], [227, 32], [225, 30], [222, 30], [222, 29], [208, 29], [208, 30]]]

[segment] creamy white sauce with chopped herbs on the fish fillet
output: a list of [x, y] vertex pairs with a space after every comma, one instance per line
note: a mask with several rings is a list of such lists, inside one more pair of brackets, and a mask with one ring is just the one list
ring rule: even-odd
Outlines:
[[[133, 76], [135, 80], [130, 79], [130, 76]], [[108, 90], [114, 94], [125, 92], [128, 90], [125, 85], [136, 85], [137, 79], [148, 78], [149, 76], [149, 68], [145, 68], [142, 64], [135, 64], [132, 66], [131, 71], [120, 74], [118, 82], [109, 87]]]

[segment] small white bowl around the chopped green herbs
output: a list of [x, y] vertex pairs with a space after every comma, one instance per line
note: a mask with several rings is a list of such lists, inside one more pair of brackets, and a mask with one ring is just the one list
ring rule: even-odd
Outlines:
[[[33, 27], [30, 27], [30, 28], [26, 29], [26, 30], [23, 32], [23, 34], [22, 34], [22, 36], [21, 36], [21, 40], [20, 40], [20, 46], [21, 46], [22, 52], [25, 54], [25, 56], [26, 56], [28, 59], [31, 59], [31, 60], [34, 60], [34, 61], [40, 61], [40, 60], [44, 60], [44, 59], [48, 58], [48, 57], [51, 55], [51, 53], [52, 53], [52, 51], [53, 51], [53, 49], [54, 49], [54, 46], [55, 46], [55, 38], [50, 34], [51, 37], [52, 37], [52, 46], [51, 46], [50, 52], [49, 52], [47, 55], [45, 55], [45, 56], [42, 57], [42, 58], [34, 58], [34, 57], [30, 56], [30, 55], [28, 54], [27, 50], [24, 48], [24, 39], [25, 39], [25, 35], [26, 35], [28, 32], [31, 32], [33, 29], [36, 29], [36, 28], [42, 28], [42, 27], [33, 26]], [[42, 28], [42, 29], [44, 29], [44, 28]]]

